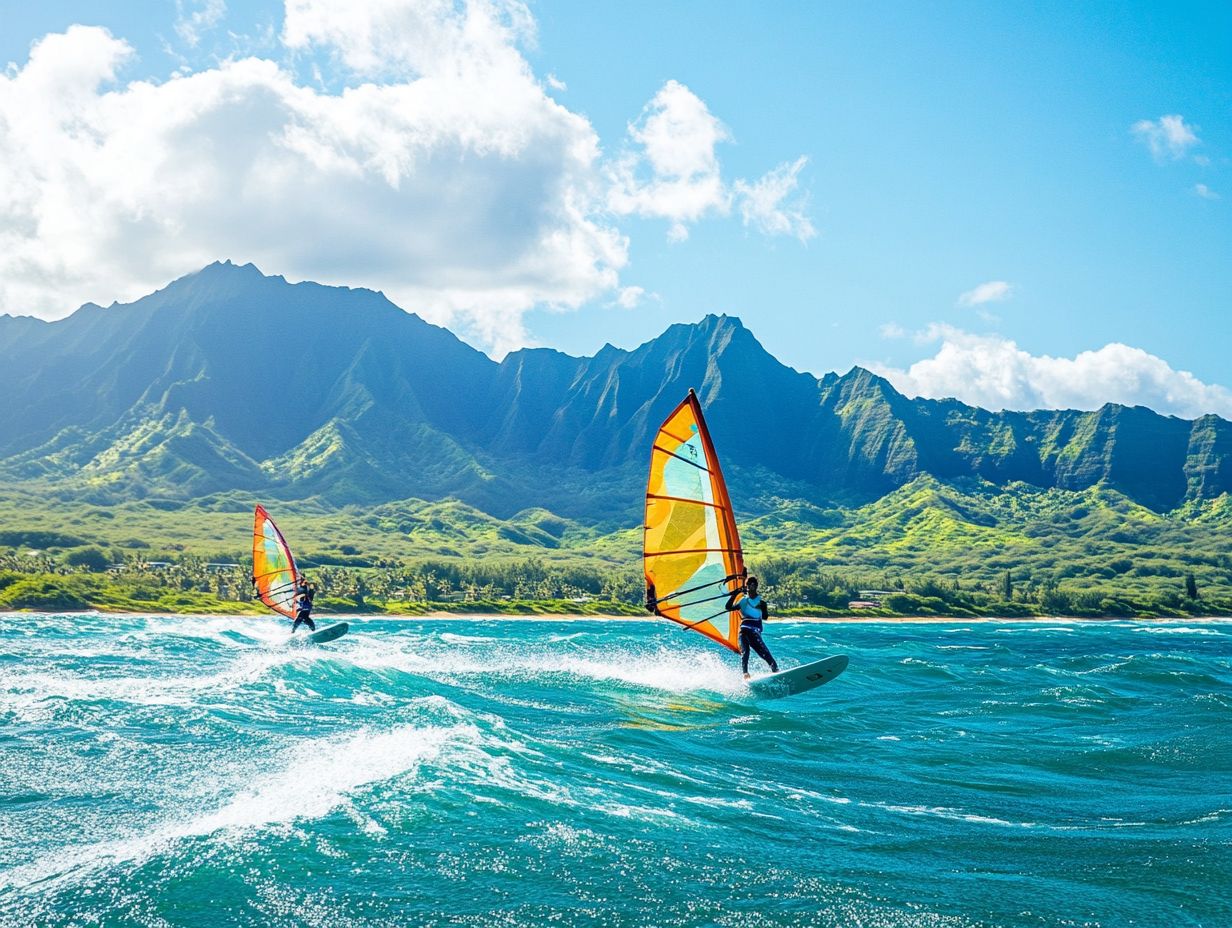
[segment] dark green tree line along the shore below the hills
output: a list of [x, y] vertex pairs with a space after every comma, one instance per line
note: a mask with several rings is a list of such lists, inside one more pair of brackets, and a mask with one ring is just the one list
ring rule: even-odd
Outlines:
[[[304, 558], [306, 563], [317, 563]], [[938, 616], [1152, 616], [1232, 613], [1232, 603], [1204, 595], [1193, 573], [1168, 578], [1147, 590], [1116, 587], [1062, 587], [1055, 577], [1029, 569], [987, 577], [917, 576], [904, 571], [823, 568], [809, 558], [769, 557], [750, 569], [779, 615], [938, 615]], [[306, 568], [318, 584], [324, 611], [416, 611], [429, 604], [514, 603], [607, 604], [636, 611], [644, 596], [639, 566], [595, 561], [425, 560], [381, 561], [373, 567], [319, 564]], [[1161, 578], [1163, 580], [1164, 578]], [[876, 593], [867, 603], [861, 598]], [[853, 609], [853, 603], [866, 603]], [[0, 608], [148, 608], [169, 611], [256, 608], [250, 568], [234, 555], [0, 551]], [[246, 611], [246, 609], [244, 609]]]

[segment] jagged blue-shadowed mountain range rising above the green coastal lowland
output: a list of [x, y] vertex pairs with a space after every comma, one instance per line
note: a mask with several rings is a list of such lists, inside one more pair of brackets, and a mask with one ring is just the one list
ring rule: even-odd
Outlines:
[[623, 518], [690, 387], [745, 498], [864, 503], [922, 474], [1101, 484], [1156, 510], [1232, 489], [1232, 424], [1214, 415], [908, 399], [859, 367], [786, 367], [715, 315], [633, 351], [496, 364], [379, 293], [229, 263], [55, 323], [0, 317], [0, 474], [105, 500], [237, 489]]

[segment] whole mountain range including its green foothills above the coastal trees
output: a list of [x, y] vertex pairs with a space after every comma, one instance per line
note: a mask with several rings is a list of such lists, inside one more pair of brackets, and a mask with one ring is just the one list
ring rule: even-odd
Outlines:
[[216, 264], [0, 317], [0, 526], [117, 557], [245, 557], [261, 499], [320, 563], [533, 557], [633, 589], [649, 439], [694, 387], [749, 557], [781, 578], [1230, 583], [1228, 421], [910, 399], [786, 367], [731, 317], [495, 362], [379, 293]]

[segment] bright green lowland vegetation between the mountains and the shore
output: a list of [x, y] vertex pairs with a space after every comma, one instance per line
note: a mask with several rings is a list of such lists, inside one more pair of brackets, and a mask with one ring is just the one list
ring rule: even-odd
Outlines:
[[[322, 613], [642, 614], [636, 527], [457, 500], [270, 504]], [[1227, 497], [1156, 513], [1105, 487], [920, 477], [859, 508], [768, 497], [742, 514], [776, 615], [1232, 614]], [[96, 505], [0, 495], [0, 609], [260, 613], [251, 500]], [[636, 516], [633, 518], [636, 520]], [[880, 608], [854, 611], [860, 590]]]

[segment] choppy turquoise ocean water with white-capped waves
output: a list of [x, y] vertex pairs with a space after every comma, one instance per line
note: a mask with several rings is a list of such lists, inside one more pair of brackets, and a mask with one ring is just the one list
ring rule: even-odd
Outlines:
[[0, 617], [0, 924], [1232, 924], [1232, 624], [283, 640]]

